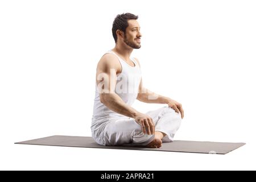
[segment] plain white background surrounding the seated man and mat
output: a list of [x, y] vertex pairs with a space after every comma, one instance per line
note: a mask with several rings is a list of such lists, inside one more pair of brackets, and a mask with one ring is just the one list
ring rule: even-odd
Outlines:
[[[256, 169], [255, 9], [255, 1], [1, 1], [0, 169]], [[139, 15], [133, 56], [144, 86], [183, 104], [175, 139], [245, 146], [209, 155], [14, 144], [91, 135], [96, 65], [114, 47], [115, 16], [127, 12]]]

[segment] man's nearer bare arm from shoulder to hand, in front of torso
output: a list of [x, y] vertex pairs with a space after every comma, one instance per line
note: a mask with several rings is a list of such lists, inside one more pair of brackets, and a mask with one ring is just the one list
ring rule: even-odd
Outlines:
[[106, 54], [102, 56], [97, 65], [96, 81], [100, 93], [100, 101], [110, 110], [116, 113], [134, 118], [142, 126], [142, 131], [146, 134], [154, 134], [155, 126], [152, 118], [140, 113], [130, 105], [126, 104], [121, 97], [116, 94], [115, 85], [117, 83], [117, 73], [121, 71], [121, 65], [116, 56]]

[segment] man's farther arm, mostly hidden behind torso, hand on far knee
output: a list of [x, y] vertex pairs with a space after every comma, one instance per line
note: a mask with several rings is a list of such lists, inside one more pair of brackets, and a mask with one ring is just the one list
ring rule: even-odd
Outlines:
[[[136, 60], [139, 64], [138, 59]], [[141, 67], [140, 64], [139, 66]], [[184, 117], [184, 110], [182, 108], [182, 105], [179, 102], [172, 100], [169, 97], [161, 96], [159, 94], [151, 92], [147, 88], [144, 88], [142, 83], [142, 78], [141, 78], [141, 83], [139, 84], [137, 100], [141, 102], [152, 103], [152, 104], [168, 104], [168, 106], [172, 107], [172, 109], [174, 109], [177, 113], [181, 113], [181, 118]]]

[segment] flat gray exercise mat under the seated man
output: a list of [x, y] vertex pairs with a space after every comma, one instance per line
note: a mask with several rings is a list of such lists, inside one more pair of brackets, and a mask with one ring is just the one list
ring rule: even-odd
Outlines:
[[92, 137], [75, 137], [54, 135], [51, 137], [38, 138], [17, 142], [15, 144], [36, 144], [44, 146], [64, 146], [64, 147], [86, 147], [86, 148], [112, 148], [125, 150], [152, 150], [168, 152], [192, 152], [205, 154], [227, 154], [245, 143], [226, 143], [226, 142], [197, 142], [186, 140], [174, 140], [174, 142], [164, 142], [160, 148], [144, 147], [122, 147], [122, 146], [100, 146]]

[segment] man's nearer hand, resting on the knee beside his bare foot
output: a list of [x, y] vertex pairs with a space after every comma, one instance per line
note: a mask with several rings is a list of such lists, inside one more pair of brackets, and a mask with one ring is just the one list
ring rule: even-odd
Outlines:
[[135, 121], [142, 126], [142, 131], [144, 134], [152, 135], [155, 134], [155, 125], [152, 118], [146, 114], [138, 113], [135, 116]]

